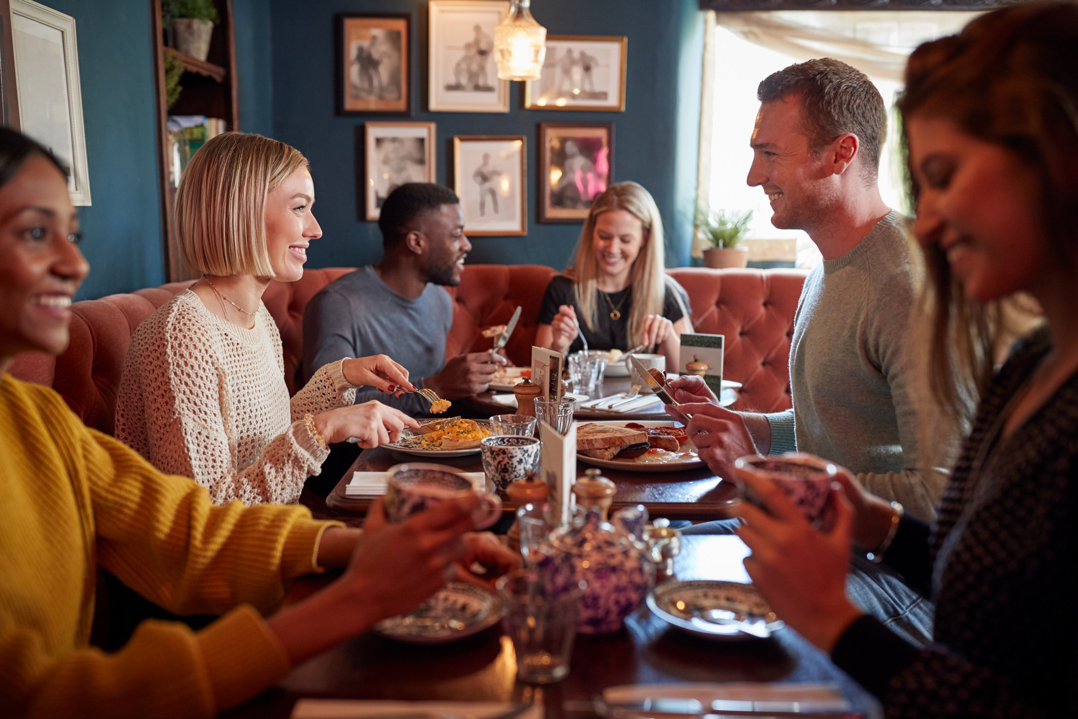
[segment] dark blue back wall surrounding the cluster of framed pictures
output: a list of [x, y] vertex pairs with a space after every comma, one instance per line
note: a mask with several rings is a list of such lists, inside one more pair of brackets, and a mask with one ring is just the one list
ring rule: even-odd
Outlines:
[[[336, 13], [411, 13], [412, 116], [370, 119], [437, 123], [440, 182], [452, 184], [454, 135], [528, 138], [528, 234], [474, 237], [470, 262], [564, 267], [580, 225], [536, 221], [538, 125], [612, 122], [614, 180], [636, 180], [651, 191], [666, 226], [667, 262], [689, 264], [703, 46], [696, 0], [544, 0], [533, 10], [552, 34], [628, 37], [625, 112], [522, 110], [521, 83], [510, 83], [509, 114], [427, 112], [426, 0], [333, 0], [308, 3], [302, 11], [293, 0], [273, 0], [273, 134], [310, 160], [315, 215], [324, 233], [310, 248], [308, 266], [355, 266], [382, 255], [377, 224], [360, 221], [357, 205], [357, 143], [368, 117], [334, 113]], [[250, 82], [250, 75], [240, 77], [245, 85]]]

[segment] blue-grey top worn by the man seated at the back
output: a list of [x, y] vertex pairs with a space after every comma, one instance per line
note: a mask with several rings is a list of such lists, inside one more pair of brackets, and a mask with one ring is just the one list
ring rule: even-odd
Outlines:
[[[445, 338], [453, 324], [453, 300], [427, 285], [415, 300], [393, 292], [370, 265], [323, 287], [303, 314], [304, 382], [315, 371], [345, 357], [388, 355], [409, 371], [413, 384], [445, 364]], [[407, 414], [426, 414], [430, 404], [416, 395], [398, 399], [376, 389], [356, 391], [356, 402], [378, 400]]]

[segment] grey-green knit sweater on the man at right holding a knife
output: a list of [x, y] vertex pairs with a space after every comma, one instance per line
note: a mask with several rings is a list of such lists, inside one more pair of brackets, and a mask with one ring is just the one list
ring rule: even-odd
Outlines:
[[[893, 211], [808, 274], [790, 345], [793, 409], [768, 419], [772, 453], [796, 448], [835, 461], [873, 494], [931, 518], [944, 478], [922, 471], [917, 447], [922, 423], [938, 417], [917, 397], [910, 252]], [[940, 424], [936, 439], [957, 447], [960, 428]]]

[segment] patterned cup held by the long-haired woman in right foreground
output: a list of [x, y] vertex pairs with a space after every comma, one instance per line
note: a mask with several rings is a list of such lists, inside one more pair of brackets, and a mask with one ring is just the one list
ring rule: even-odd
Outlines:
[[818, 529], [830, 526], [831, 512], [828, 497], [838, 468], [816, 455], [789, 452], [784, 455], [748, 455], [734, 460], [737, 474], [737, 494], [742, 499], [766, 510], [760, 498], [743, 481], [741, 475], [771, 480], [775, 486], [793, 500], [805, 518]]

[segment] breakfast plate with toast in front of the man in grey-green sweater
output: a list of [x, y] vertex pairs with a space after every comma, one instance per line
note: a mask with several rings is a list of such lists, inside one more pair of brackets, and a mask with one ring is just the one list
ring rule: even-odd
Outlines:
[[671, 472], [704, 466], [685, 426], [677, 421], [578, 421], [577, 458], [626, 472]]

